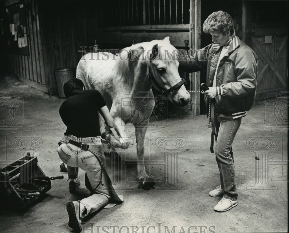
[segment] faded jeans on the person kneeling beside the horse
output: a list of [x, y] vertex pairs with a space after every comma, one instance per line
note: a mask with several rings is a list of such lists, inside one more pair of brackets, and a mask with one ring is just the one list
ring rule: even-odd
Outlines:
[[[75, 140], [75, 138], [73, 138]], [[87, 139], [87, 140], [86, 140]], [[101, 144], [100, 138], [96, 139], [95, 142], [91, 142], [89, 138], [79, 138], [77, 140], [81, 143], [89, 144], [90, 147], [93, 147], [93, 151], [95, 151], [99, 156], [104, 156], [103, 146]], [[71, 167], [72, 172], [75, 173], [76, 168], [80, 168], [86, 171], [86, 175], [90, 182], [90, 185], [93, 189], [99, 184], [101, 177], [101, 164], [99, 160], [92, 154], [90, 151], [83, 150], [75, 145], [69, 143], [62, 143], [58, 147], [58, 155], [60, 159], [67, 164], [68, 169]], [[69, 173], [68, 173], [69, 174]], [[77, 177], [77, 176], [76, 176]], [[71, 177], [71, 179], [76, 178]], [[110, 181], [109, 178], [105, 175], [102, 176], [102, 182], [104, 187], [109, 186]], [[110, 200], [109, 191], [102, 188], [102, 185], [99, 185], [90, 197], [84, 198], [80, 201], [86, 207], [86, 215], [97, 211], [102, 206], [108, 204]]]

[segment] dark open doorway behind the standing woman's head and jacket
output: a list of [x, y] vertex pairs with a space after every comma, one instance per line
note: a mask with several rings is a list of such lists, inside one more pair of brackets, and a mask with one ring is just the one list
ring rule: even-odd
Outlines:
[[[235, 23], [235, 31], [236, 35], [241, 38], [241, 25], [242, 25], [242, 1], [216, 1], [216, 0], [210, 0], [210, 1], [201, 1], [201, 26], [203, 26], [203, 23], [207, 17], [218, 10], [223, 10], [225, 12], [228, 12], [232, 18], [234, 19]], [[210, 34], [205, 34], [203, 32], [202, 27], [202, 34], [201, 34], [201, 48], [209, 45], [212, 43], [212, 37]], [[206, 71], [201, 71], [201, 82], [206, 82]], [[200, 94], [200, 114], [206, 114], [206, 106], [204, 102], [203, 95]]]

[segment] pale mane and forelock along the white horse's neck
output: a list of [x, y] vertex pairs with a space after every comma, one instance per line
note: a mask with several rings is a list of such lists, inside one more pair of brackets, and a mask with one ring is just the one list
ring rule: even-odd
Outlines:
[[152, 40], [148, 42], [141, 42], [130, 47], [122, 49], [118, 55], [116, 61], [116, 68], [118, 74], [120, 74], [125, 80], [128, 77], [134, 76], [134, 67], [133, 62], [129, 59], [130, 50], [139, 50], [141, 48], [142, 55], [139, 56], [138, 62], [142, 64], [145, 63], [147, 66], [150, 66], [150, 58], [152, 56], [152, 48], [154, 45], [158, 45], [158, 53], [161, 60], [177, 60], [179, 56], [179, 51], [171, 45], [169, 37], [164, 38], [163, 40]]

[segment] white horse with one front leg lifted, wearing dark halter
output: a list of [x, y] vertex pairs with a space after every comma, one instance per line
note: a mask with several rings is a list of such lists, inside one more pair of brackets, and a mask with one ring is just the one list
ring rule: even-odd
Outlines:
[[[118, 56], [104, 52], [88, 53], [77, 65], [76, 77], [83, 81], [86, 89], [96, 89], [101, 93], [114, 118], [114, 129], [119, 139], [107, 133], [106, 140], [110, 139], [114, 148], [130, 147], [133, 140], [127, 137], [125, 124], [134, 124], [138, 180], [144, 189], [155, 184], [144, 167], [144, 136], [155, 105], [152, 84], [176, 106], [186, 106], [190, 101], [183, 85], [185, 81], [178, 73], [177, 56], [177, 49], [166, 37], [132, 45], [121, 50]], [[123, 104], [123, 99], [126, 103], [137, 99], [138, 104]]]

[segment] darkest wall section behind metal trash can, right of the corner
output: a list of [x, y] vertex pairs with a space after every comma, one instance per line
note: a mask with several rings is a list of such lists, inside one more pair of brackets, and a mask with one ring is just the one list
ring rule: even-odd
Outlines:
[[77, 66], [81, 46], [98, 41], [96, 1], [38, 1], [45, 75], [49, 92], [57, 94], [54, 71]]

